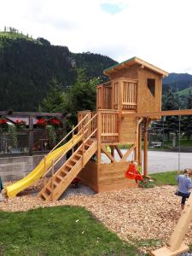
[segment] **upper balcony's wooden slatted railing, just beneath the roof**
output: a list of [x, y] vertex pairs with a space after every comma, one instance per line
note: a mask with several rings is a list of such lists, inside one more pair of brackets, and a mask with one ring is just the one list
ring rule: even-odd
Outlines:
[[97, 86], [97, 109], [137, 110], [137, 80], [114, 79]]

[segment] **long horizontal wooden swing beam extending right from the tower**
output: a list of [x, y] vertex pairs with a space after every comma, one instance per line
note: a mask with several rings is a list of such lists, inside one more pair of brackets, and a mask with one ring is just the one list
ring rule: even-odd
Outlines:
[[180, 109], [180, 110], [165, 110], [160, 112], [148, 112], [148, 113], [125, 113], [124, 117], [151, 117], [151, 116], [172, 116], [172, 115], [192, 115], [192, 109]]

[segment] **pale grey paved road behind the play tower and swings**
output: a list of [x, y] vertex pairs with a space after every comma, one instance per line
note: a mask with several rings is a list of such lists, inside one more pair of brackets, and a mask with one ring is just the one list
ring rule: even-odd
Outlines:
[[[125, 153], [125, 150], [122, 150]], [[115, 159], [119, 155], [115, 153]], [[131, 157], [129, 158], [131, 160]], [[109, 162], [108, 157], [102, 155], [102, 162]], [[180, 153], [180, 170], [192, 168], [192, 153]], [[148, 151], [148, 173], [169, 172], [178, 170], [178, 154], [166, 151]]]

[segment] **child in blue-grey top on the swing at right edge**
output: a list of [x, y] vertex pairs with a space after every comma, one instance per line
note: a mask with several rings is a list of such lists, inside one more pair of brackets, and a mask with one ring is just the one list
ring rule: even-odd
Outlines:
[[189, 169], [184, 169], [183, 175], [178, 175], [177, 180], [177, 192], [176, 195], [182, 196], [181, 208], [184, 209], [185, 201], [189, 198], [190, 189], [192, 189], [191, 177], [192, 171]]

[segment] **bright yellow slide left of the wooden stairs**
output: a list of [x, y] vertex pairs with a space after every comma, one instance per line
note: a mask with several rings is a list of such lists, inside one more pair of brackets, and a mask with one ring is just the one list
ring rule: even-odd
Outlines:
[[66, 154], [75, 144], [77, 144], [80, 140], [79, 136], [73, 136], [73, 138], [68, 141], [66, 144], [61, 146], [60, 148], [56, 148], [53, 152], [46, 156], [46, 161], [44, 163], [44, 159], [40, 161], [38, 166], [30, 172], [26, 177], [23, 177], [16, 183], [5, 188], [6, 194], [9, 197], [14, 197], [23, 189], [28, 188], [33, 183], [35, 183], [40, 177], [44, 175], [45, 172], [49, 169], [52, 164], [52, 160], [57, 160], [61, 154]]

